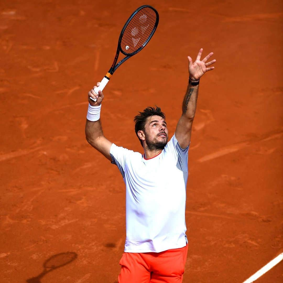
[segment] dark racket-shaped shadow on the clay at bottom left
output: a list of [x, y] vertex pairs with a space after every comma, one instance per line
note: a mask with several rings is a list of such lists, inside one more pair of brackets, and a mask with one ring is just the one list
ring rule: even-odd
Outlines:
[[27, 283], [41, 283], [40, 279], [47, 273], [67, 265], [78, 257], [75, 252], [61, 252], [60, 254], [55, 254], [48, 258], [43, 263], [43, 271], [36, 277], [27, 279]]

